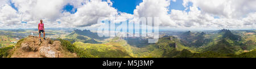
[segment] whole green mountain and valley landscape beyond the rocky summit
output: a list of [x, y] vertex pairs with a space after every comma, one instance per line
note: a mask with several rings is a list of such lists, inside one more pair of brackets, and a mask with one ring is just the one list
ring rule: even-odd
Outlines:
[[[75, 29], [56, 41], [60, 41], [58, 46], [67, 49], [67, 53], [75, 53], [76, 57], [81, 58], [255, 58], [255, 32], [228, 29], [187, 31], [175, 36], [161, 35], [158, 42], [149, 44], [144, 37], [98, 37], [97, 33], [90, 30]], [[23, 40], [18, 41], [16, 46], [20, 46]], [[48, 43], [52, 44], [52, 40], [48, 40]], [[0, 48], [0, 55], [8, 57], [13, 48]]]

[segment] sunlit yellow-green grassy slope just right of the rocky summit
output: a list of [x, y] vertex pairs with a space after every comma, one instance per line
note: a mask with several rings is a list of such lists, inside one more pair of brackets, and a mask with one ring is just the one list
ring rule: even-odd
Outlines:
[[61, 45], [80, 58], [129, 58], [132, 57], [129, 47], [120, 46], [122, 42], [108, 44], [89, 44], [76, 41], [73, 44], [67, 40], [61, 40]]

